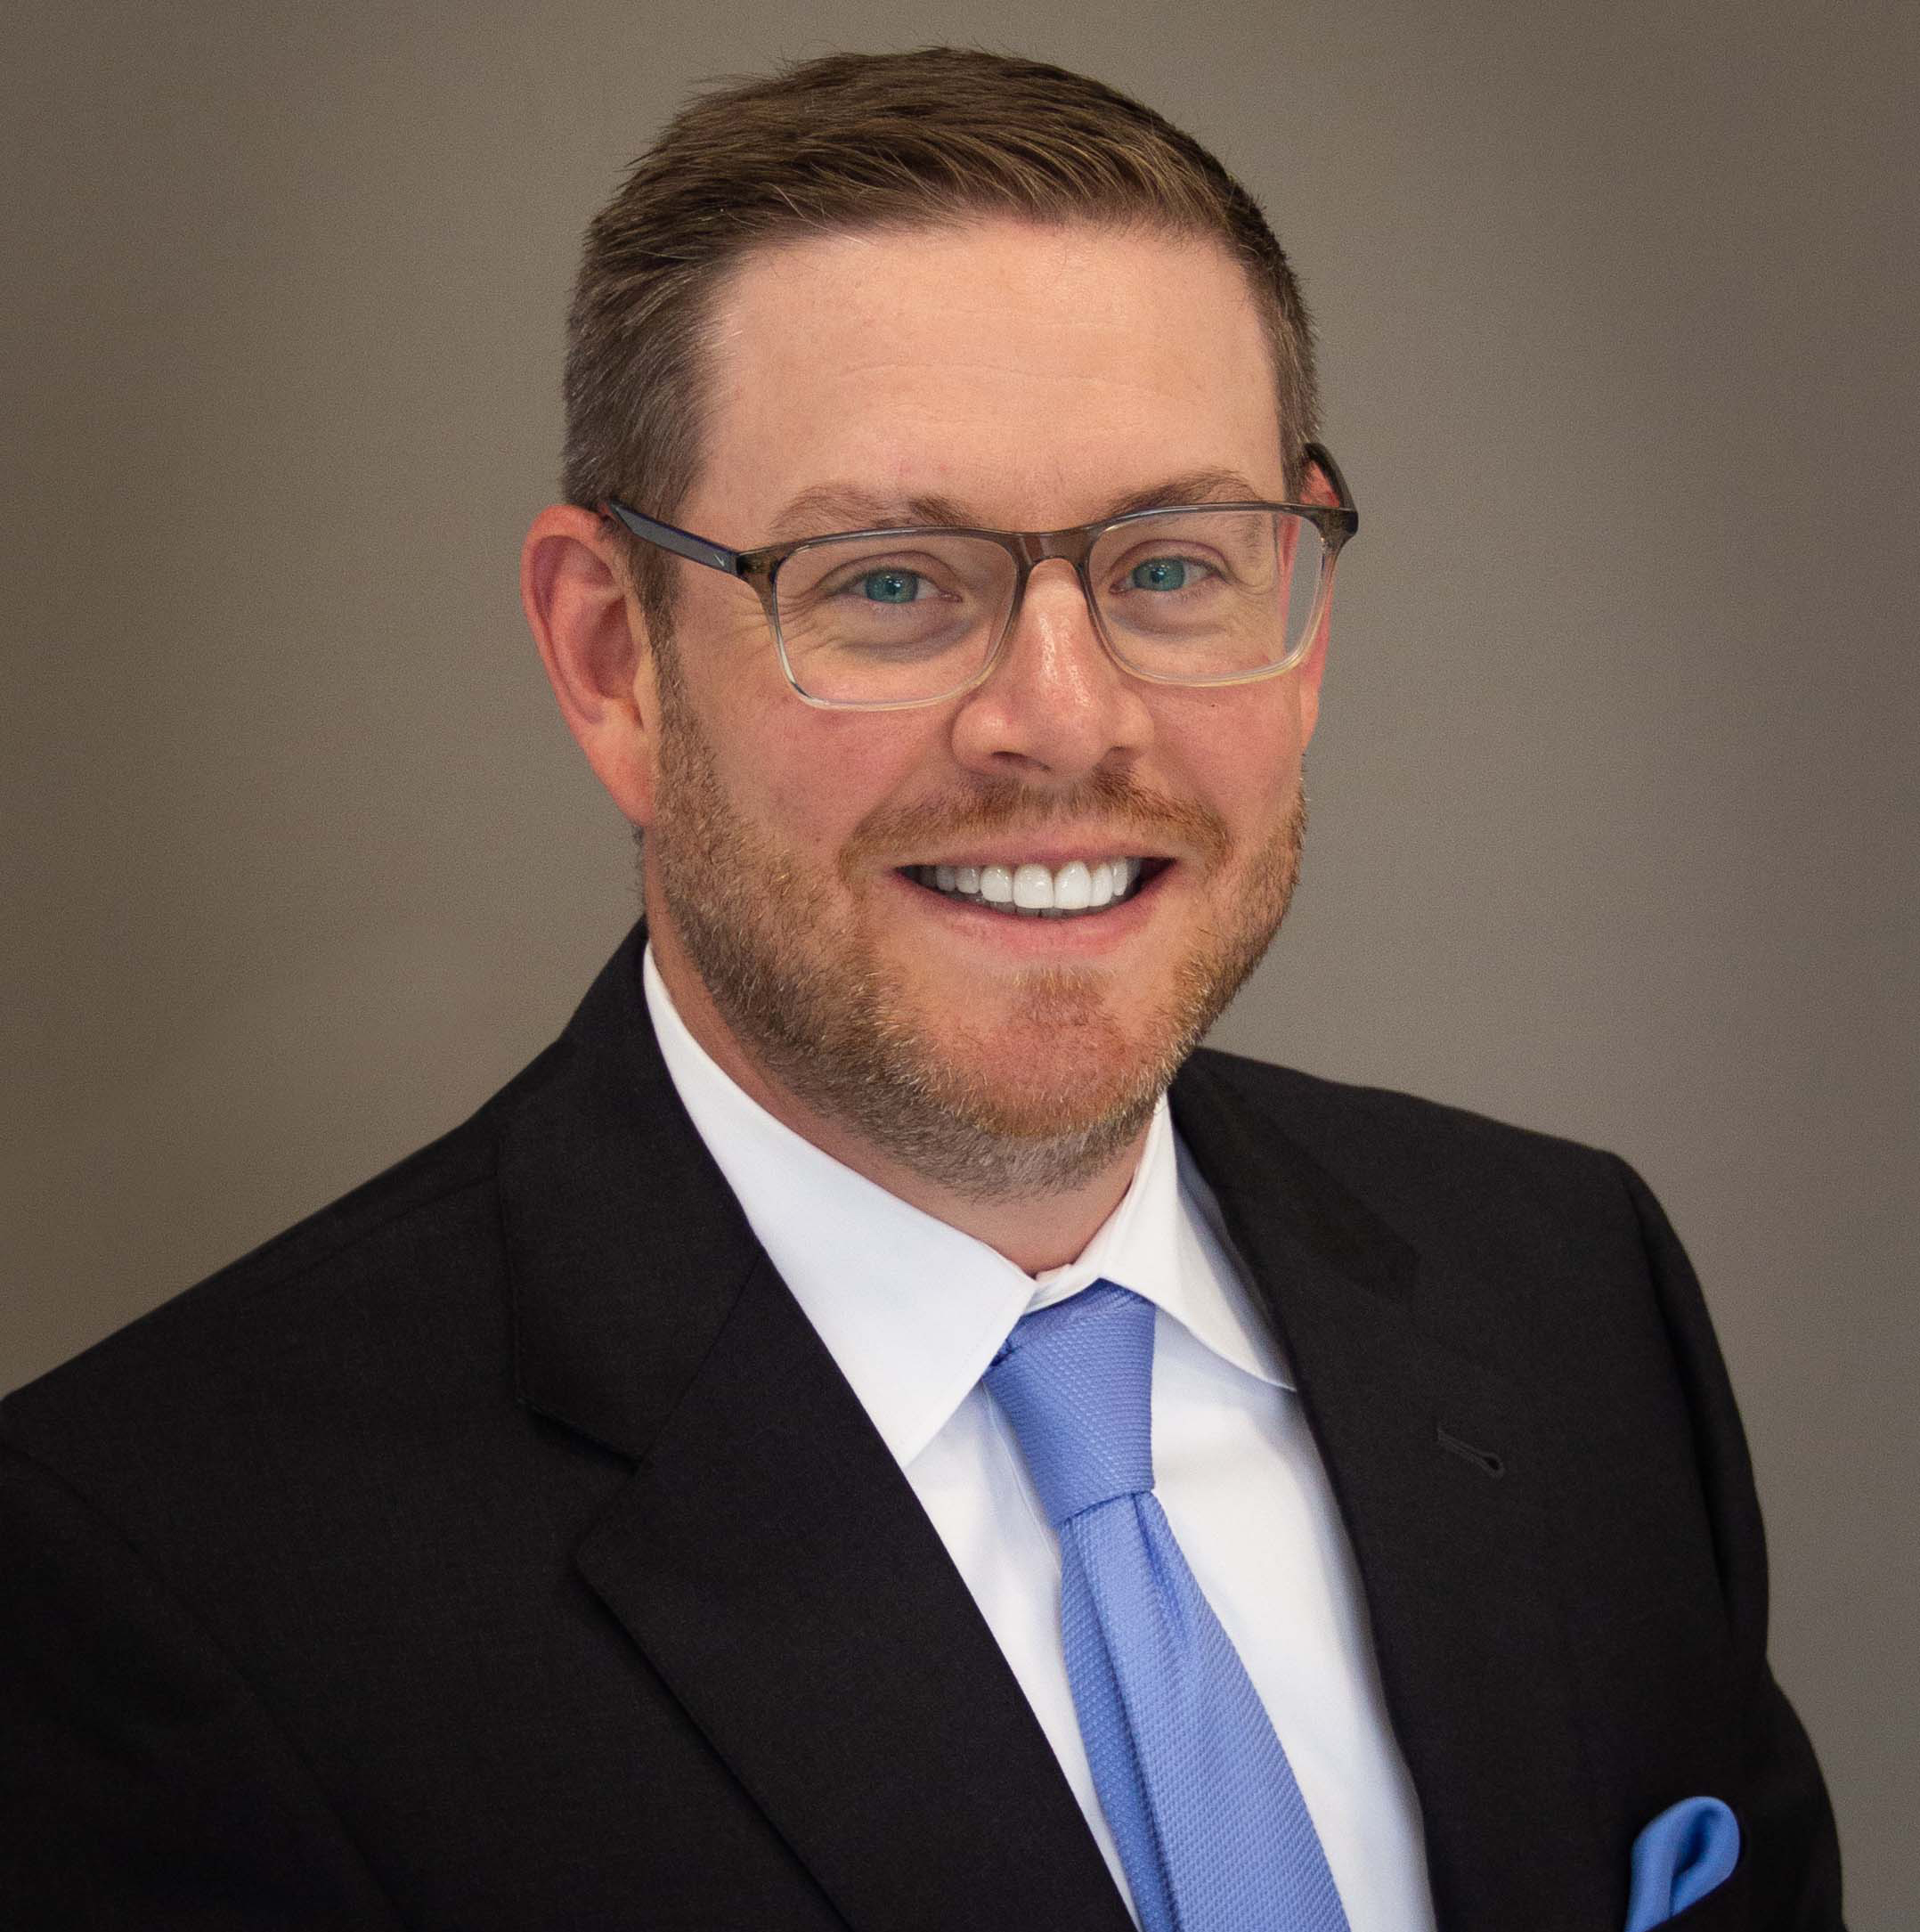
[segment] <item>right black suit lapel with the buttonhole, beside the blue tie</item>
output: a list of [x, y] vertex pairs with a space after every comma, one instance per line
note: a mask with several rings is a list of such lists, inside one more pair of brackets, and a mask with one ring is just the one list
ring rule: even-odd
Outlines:
[[1443, 1926], [1611, 1924], [1524, 1393], [1443, 1339], [1418, 1258], [1200, 1057], [1174, 1119], [1286, 1349], [1420, 1795]]

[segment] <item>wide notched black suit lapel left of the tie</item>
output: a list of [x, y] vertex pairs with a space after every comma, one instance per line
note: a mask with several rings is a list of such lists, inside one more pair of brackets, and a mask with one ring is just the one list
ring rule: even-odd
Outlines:
[[639, 1464], [576, 1563], [850, 1924], [1126, 1932], [972, 1596], [680, 1107], [639, 945], [502, 1134], [522, 1395]]

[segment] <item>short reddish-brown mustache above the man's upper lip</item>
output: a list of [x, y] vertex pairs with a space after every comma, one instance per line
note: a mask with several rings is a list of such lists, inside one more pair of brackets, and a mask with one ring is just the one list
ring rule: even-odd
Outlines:
[[[1055, 825], [1140, 833], [1149, 848], [1167, 840], [1207, 864], [1225, 860], [1232, 844], [1227, 821], [1211, 808], [1149, 790], [1124, 773], [1093, 773], [1068, 790], [1022, 784], [1018, 779], [983, 779], [960, 798], [875, 808], [854, 827], [840, 852], [840, 869], [852, 875], [898, 852], [927, 850], [985, 833], [1047, 831]], [[1130, 846], [1132, 840], [1115, 840], [1115, 850]]]

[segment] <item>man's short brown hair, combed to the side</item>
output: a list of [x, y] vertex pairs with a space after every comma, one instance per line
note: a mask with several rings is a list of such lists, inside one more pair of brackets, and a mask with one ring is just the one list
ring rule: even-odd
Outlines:
[[[1126, 95], [977, 48], [829, 54], [682, 108], [587, 228], [568, 315], [568, 502], [672, 518], [701, 462], [705, 348], [726, 276], [804, 236], [991, 214], [1217, 240], [1246, 270], [1273, 350], [1298, 487], [1315, 435], [1306, 305], [1254, 197], [1192, 135]], [[666, 558], [630, 545], [655, 622]]]

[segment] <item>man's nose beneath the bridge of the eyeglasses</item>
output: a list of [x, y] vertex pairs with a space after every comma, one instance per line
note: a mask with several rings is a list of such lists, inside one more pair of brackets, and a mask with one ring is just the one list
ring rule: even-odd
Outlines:
[[1130, 765], [1151, 736], [1144, 688], [1107, 655], [1074, 566], [1035, 564], [999, 661], [954, 713], [954, 755], [983, 777], [1076, 784]]

